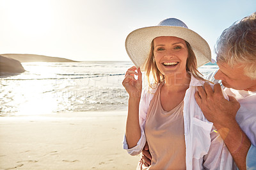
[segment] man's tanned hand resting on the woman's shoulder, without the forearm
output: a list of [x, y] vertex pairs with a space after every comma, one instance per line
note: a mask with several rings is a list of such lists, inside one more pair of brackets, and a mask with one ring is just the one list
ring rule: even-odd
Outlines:
[[212, 90], [209, 82], [205, 82], [204, 88], [198, 86], [195, 99], [207, 120], [214, 123], [216, 128], [227, 126], [227, 123], [236, 121], [236, 113], [240, 108], [236, 98], [229, 97], [229, 101], [223, 97], [220, 84], [215, 84]]

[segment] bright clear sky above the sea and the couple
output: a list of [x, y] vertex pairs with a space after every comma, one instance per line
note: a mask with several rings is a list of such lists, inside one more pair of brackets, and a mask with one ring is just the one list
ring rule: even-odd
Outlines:
[[221, 32], [253, 12], [255, 0], [0, 0], [0, 54], [129, 61], [131, 31], [175, 17], [205, 38], [216, 58]]

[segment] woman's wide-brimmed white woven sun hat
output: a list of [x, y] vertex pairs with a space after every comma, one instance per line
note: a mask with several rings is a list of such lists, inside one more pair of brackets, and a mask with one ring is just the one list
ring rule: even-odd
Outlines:
[[188, 29], [179, 19], [165, 19], [157, 26], [142, 27], [132, 31], [125, 40], [125, 49], [134, 65], [145, 70], [145, 63], [150, 53], [151, 42], [158, 36], [175, 36], [191, 45], [196, 55], [197, 67], [211, 61], [211, 49], [200, 35]]

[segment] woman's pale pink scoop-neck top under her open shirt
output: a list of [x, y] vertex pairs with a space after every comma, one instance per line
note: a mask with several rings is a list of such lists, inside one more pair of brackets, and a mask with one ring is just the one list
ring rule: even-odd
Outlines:
[[[148, 169], [186, 169], [184, 102], [182, 100], [172, 111], [164, 111], [160, 100], [163, 84], [150, 102], [145, 123], [145, 135], [152, 155]], [[141, 166], [141, 169], [144, 168]]]

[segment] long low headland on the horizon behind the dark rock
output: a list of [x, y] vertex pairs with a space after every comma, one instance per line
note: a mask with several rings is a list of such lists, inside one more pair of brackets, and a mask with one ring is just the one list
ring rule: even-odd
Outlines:
[[16, 59], [20, 63], [26, 62], [79, 62], [72, 59], [56, 58], [37, 54], [0, 54], [6, 58]]

